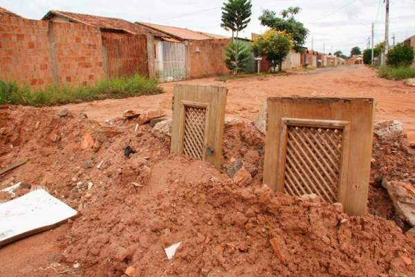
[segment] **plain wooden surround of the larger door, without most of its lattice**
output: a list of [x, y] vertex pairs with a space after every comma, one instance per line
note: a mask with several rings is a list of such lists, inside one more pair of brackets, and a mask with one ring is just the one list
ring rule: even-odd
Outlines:
[[[327, 156], [327, 161], [340, 164], [340, 185], [336, 196], [343, 204], [344, 211], [349, 215], [365, 214], [374, 125], [374, 99], [286, 97], [268, 98], [267, 103], [264, 184], [284, 192], [282, 177], [286, 166], [284, 158], [281, 157], [286, 152], [281, 145], [284, 143], [284, 136], [281, 134], [284, 118], [290, 118], [287, 121], [288, 125], [341, 127], [342, 149], [334, 147], [335, 136], [315, 134], [314, 139], [321, 143], [323, 148], [320, 154]], [[320, 123], [321, 126], [318, 125]], [[321, 159], [320, 154], [316, 154], [315, 157]], [[340, 160], [337, 161], [336, 158]]]

